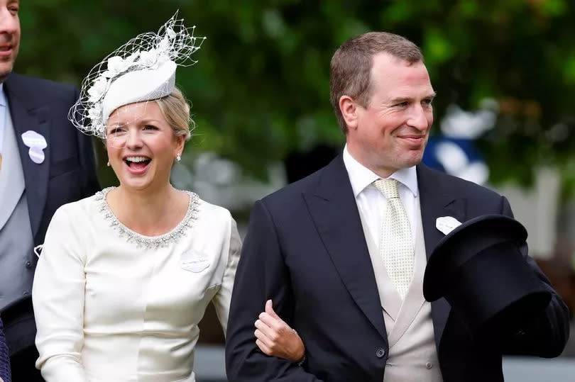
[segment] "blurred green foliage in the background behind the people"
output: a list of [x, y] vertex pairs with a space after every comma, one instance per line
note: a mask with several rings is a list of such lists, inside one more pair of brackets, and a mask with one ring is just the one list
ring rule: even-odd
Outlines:
[[[23, 0], [16, 70], [79, 85], [89, 69], [180, 9], [208, 40], [177, 83], [211, 150], [264, 176], [265, 163], [344, 137], [329, 106], [329, 60], [344, 40], [388, 30], [422, 47], [439, 96], [467, 110], [499, 101], [482, 139], [491, 181], [528, 185], [537, 164], [575, 184], [575, 2], [571, 0]], [[436, 126], [438, 124], [436, 123]], [[105, 162], [105, 159], [102, 159]]]

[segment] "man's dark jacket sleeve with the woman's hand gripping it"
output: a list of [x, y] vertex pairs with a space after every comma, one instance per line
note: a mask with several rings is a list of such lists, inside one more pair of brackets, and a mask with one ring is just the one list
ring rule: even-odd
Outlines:
[[230, 381], [319, 382], [319, 378], [292, 361], [268, 356], [256, 345], [254, 322], [265, 301], [275, 302], [283, 319], [295, 309], [288, 266], [282, 254], [270, 211], [264, 201], [251, 210], [231, 301], [226, 338], [226, 372]]

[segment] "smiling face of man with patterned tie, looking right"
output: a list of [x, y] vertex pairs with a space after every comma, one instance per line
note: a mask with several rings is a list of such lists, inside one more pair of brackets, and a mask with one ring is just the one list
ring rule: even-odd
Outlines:
[[356, 104], [346, 135], [351, 155], [379, 176], [421, 162], [433, 123], [434, 91], [423, 62], [373, 57], [371, 99]]

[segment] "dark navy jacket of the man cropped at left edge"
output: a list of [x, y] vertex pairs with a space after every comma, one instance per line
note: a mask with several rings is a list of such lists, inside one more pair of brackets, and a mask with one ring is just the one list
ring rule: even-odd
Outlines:
[[[74, 87], [9, 74], [4, 91], [22, 162], [33, 241], [40, 245], [58, 207], [99, 190], [94, 148], [91, 138], [67, 120], [68, 110], [78, 98]], [[41, 164], [31, 161], [29, 147], [21, 139], [28, 130], [43, 135], [48, 143]], [[2, 282], [21, 286], [18, 296], [6, 296], [0, 290], [0, 310], [13, 354], [34, 342], [30, 292], [37, 259], [32, 248], [26, 259], [16, 254], [2, 254], [0, 258], [0, 286]]]

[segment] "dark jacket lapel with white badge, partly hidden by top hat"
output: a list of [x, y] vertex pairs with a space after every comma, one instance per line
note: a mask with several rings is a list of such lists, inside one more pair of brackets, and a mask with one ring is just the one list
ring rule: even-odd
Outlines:
[[[417, 166], [417, 184], [420, 191], [425, 252], [429, 259], [437, 242], [444, 237], [436, 227], [437, 218], [451, 216], [460, 222], [466, 221], [466, 200], [454, 197], [449, 189], [444, 188], [445, 183], [440, 181], [439, 174], [424, 165]], [[451, 305], [445, 298], [432, 302], [433, 329], [438, 348], [450, 311]]]

